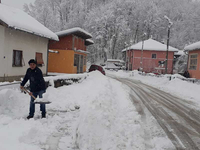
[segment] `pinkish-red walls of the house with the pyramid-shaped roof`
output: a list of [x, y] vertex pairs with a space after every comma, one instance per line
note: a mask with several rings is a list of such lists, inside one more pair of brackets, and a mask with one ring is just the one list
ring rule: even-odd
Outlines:
[[[152, 54], [156, 54], [156, 59], [152, 59]], [[159, 66], [159, 61], [164, 61], [166, 59], [166, 52], [163, 51], [142, 51], [141, 50], [134, 50], [133, 51], [133, 58], [131, 59], [132, 70], [137, 70], [138, 68], [142, 67], [144, 72], [154, 72], [155, 67]], [[143, 56], [142, 56], [143, 55]], [[142, 60], [141, 60], [142, 56]], [[169, 74], [173, 71], [173, 58], [174, 52], [168, 52], [168, 70]], [[141, 65], [142, 62], [142, 65]], [[165, 68], [163, 66], [163, 68]], [[160, 73], [164, 73], [165, 70], [160, 70]]]

